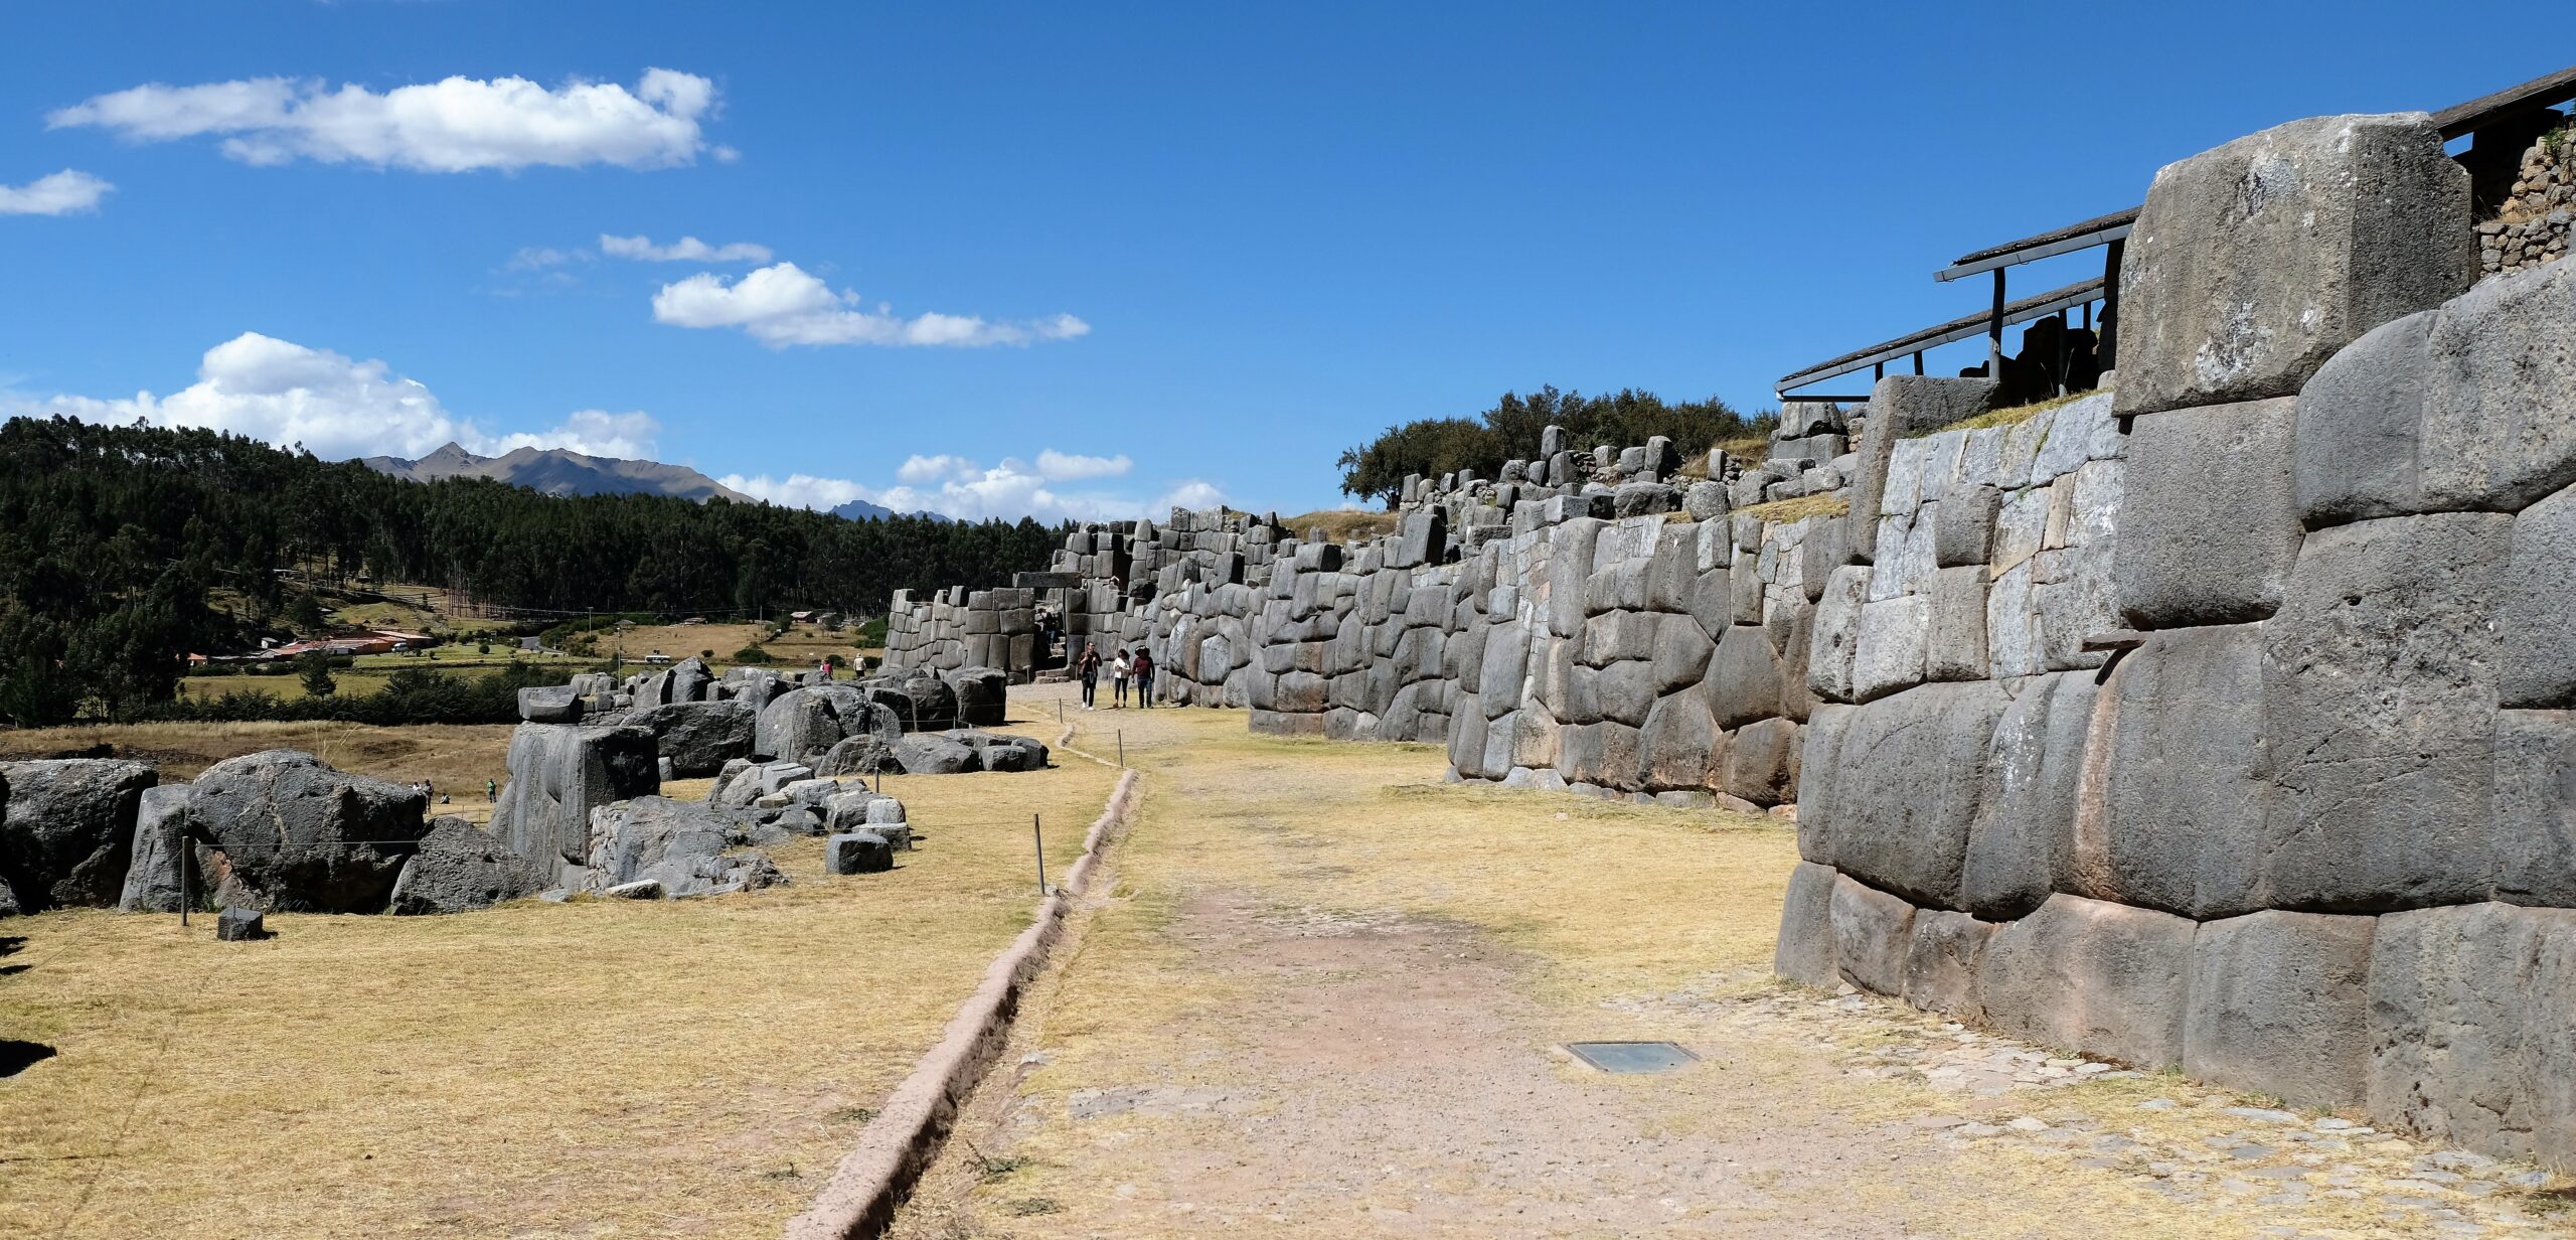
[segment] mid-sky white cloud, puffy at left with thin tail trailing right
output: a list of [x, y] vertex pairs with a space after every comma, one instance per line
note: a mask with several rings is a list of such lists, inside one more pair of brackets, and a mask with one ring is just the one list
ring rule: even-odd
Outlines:
[[858, 294], [832, 291], [796, 263], [773, 263], [726, 284], [703, 271], [665, 284], [652, 299], [654, 322], [672, 327], [742, 327], [770, 348], [786, 345], [1028, 345], [1072, 340], [1092, 325], [1056, 315], [1033, 322], [989, 322], [974, 315], [899, 317], [889, 307], [858, 309]]

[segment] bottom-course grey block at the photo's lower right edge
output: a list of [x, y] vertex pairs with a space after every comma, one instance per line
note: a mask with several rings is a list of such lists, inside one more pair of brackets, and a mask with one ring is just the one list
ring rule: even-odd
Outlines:
[[2370, 944], [2370, 1116], [2576, 1160], [2576, 910], [2391, 913]]

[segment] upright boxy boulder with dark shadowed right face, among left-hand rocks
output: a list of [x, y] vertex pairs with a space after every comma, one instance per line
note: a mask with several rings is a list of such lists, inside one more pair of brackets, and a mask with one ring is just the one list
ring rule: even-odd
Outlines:
[[657, 791], [659, 766], [644, 727], [518, 724], [492, 835], [549, 866], [580, 866], [590, 853], [590, 812]]

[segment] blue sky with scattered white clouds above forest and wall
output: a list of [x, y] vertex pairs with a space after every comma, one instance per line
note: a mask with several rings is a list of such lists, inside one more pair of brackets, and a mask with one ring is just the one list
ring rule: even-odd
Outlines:
[[1340, 449], [1504, 389], [1767, 407], [2166, 160], [2563, 67], [2486, 36], [2527, 18], [10, 5], [0, 402], [786, 503], [1327, 508]]

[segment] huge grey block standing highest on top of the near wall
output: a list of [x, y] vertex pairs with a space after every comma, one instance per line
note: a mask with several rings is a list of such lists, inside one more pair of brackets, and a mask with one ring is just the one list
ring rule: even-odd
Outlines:
[[2287, 397], [2468, 289], [2468, 170], [2424, 113], [2318, 116], [2164, 165], [2120, 273], [2120, 418]]

